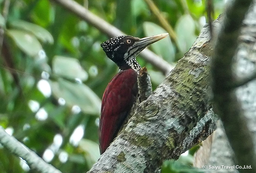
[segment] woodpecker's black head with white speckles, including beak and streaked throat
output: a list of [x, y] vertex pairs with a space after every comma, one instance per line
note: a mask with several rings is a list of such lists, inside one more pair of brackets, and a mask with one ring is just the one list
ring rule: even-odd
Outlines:
[[150, 44], [165, 38], [168, 33], [163, 33], [145, 38], [121, 35], [108, 39], [101, 44], [108, 58], [114, 61], [120, 70], [133, 68], [139, 72], [140, 65], [136, 56]]

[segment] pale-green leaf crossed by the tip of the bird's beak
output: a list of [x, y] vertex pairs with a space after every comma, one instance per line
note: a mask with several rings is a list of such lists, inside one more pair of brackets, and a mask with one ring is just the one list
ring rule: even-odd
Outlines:
[[[144, 22], [143, 29], [145, 31], [146, 36], [153, 36], [161, 33], [166, 33], [166, 30], [152, 22]], [[162, 56], [162, 58], [166, 61], [174, 61], [175, 49], [169, 37], [166, 37], [160, 41], [153, 43], [151, 47], [157, 55]]]

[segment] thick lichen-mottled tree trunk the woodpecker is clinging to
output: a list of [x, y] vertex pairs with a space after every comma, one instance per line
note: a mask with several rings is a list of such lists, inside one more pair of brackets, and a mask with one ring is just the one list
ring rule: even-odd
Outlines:
[[[216, 24], [218, 20], [213, 26]], [[213, 131], [216, 118], [206, 116], [213, 114], [209, 52], [209, 30], [205, 26], [174, 70], [140, 103], [90, 173], [155, 172], [163, 160], [175, 158]]]

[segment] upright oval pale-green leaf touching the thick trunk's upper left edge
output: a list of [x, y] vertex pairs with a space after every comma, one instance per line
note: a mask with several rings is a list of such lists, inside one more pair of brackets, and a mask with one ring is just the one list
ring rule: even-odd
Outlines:
[[195, 35], [195, 21], [190, 15], [181, 16], [175, 26], [175, 32], [177, 33], [179, 49], [184, 54], [197, 38]]

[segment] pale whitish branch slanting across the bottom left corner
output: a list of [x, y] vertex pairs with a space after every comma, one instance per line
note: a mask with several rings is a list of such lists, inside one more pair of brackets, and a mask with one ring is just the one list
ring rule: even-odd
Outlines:
[[14, 137], [8, 135], [0, 126], [0, 143], [14, 155], [24, 159], [30, 168], [42, 173], [61, 173], [52, 165], [46, 163], [35, 152], [24, 146]]

